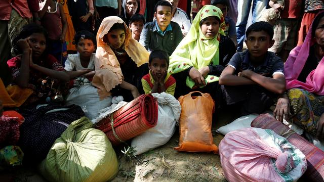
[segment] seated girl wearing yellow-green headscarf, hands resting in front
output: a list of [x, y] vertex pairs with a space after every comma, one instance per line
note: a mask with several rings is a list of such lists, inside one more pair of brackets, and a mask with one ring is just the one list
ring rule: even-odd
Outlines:
[[175, 97], [199, 90], [215, 100], [218, 76], [235, 54], [234, 43], [224, 36], [222, 11], [206, 5], [198, 12], [191, 28], [170, 57], [169, 73], [177, 81]]

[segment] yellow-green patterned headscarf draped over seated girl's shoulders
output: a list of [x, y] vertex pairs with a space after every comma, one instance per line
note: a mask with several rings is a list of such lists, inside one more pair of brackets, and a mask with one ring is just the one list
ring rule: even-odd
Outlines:
[[[199, 22], [211, 16], [216, 16], [220, 20], [220, 26], [215, 37], [207, 38], [201, 32]], [[224, 30], [225, 21], [219, 8], [212, 5], [206, 5], [201, 8], [194, 18], [187, 36], [182, 39], [171, 55], [168, 72], [175, 74], [188, 69], [190, 66], [199, 69], [208, 65], [218, 65], [218, 45], [220, 34], [224, 35]], [[205, 81], [206, 83], [218, 81], [218, 77], [207, 75]], [[186, 84], [190, 88], [195, 86], [195, 82], [189, 76], [187, 77]]]

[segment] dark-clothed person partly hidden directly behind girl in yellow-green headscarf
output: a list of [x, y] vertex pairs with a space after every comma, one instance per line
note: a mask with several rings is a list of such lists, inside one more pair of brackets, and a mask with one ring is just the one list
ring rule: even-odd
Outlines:
[[227, 16], [227, 11], [229, 10], [228, 0], [212, 0], [211, 5], [216, 6], [222, 10], [223, 16], [225, 18], [225, 35], [228, 36], [234, 43], [235, 48], [237, 48], [237, 36], [235, 23], [232, 18]]

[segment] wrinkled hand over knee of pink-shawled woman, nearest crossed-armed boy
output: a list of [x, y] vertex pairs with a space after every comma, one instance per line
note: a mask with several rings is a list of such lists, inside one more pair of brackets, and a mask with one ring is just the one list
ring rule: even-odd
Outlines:
[[277, 105], [273, 111], [273, 117], [278, 119], [280, 122], [284, 120], [284, 116], [287, 119], [290, 119], [290, 104], [287, 97], [281, 97], [277, 101]]

